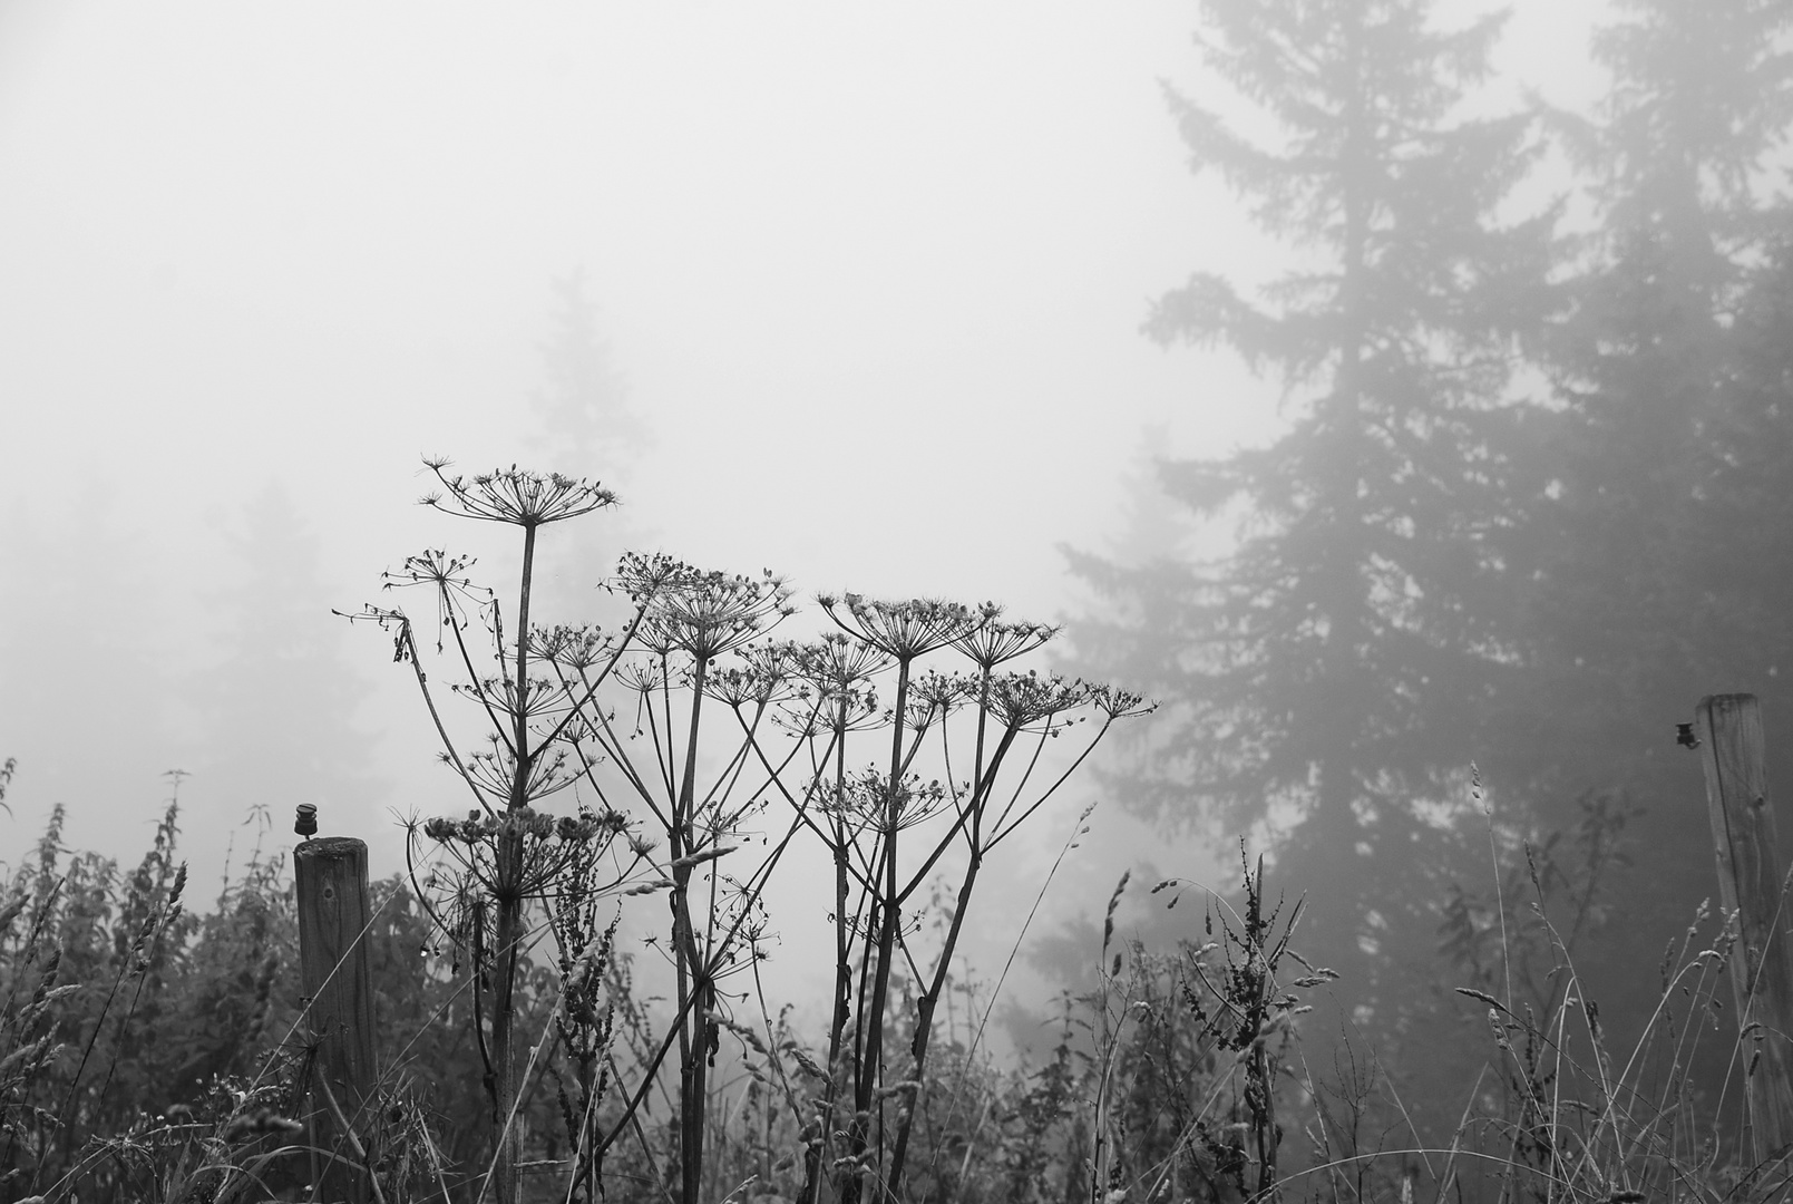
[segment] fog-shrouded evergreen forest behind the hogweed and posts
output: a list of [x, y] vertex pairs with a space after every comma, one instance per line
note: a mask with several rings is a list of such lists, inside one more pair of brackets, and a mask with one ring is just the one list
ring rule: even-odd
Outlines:
[[[1664, 947], [1714, 895], [1698, 764], [1675, 725], [1702, 694], [1759, 694], [1770, 782], [1793, 786], [1793, 9], [1612, 4], [1576, 43], [1598, 83], [1569, 108], [1497, 72], [1510, 31], [1460, 5], [1205, 0], [1183, 25], [1196, 47], [1164, 72], [1169, 127], [1275, 269], [1212, 271], [1226, 257], [1205, 255], [1192, 230], [1156, 251], [1135, 316], [1173, 364], [1187, 368], [1180, 348], [1235, 357], [1262, 382], [1244, 395], [1259, 425], [1169, 454], [1176, 440], [1133, 427], [1121, 440], [1131, 472], [1115, 463], [1096, 484], [1029, 468], [1029, 440], [1051, 438], [1038, 431], [990, 441], [975, 472], [999, 479], [993, 493], [965, 488], [993, 502], [932, 535], [974, 544], [970, 562], [997, 572], [1017, 540], [1009, 508], [1085, 488], [1117, 497], [1097, 511], [1106, 531], [1052, 553], [1072, 580], [1047, 599], [1067, 624], [1056, 667], [1160, 703], [1042, 836], [1049, 858], [1081, 804], [1103, 798], [1090, 847], [1027, 937], [1035, 998], [1013, 1005], [1009, 1030], [1027, 1044], [1051, 994], [1088, 980], [1119, 868], [1151, 847], [1139, 881], [1226, 886], [1243, 838], [1269, 852], [1271, 895], [1309, 901], [1295, 947], [1339, 973], [1307, 1041], [1373, 1050], [1408, 1107], [1449, 1132], [1486, 1059], [1486, 1008], [1452, 987], [1495, 974], [1494, 865], [1508, 894], [1537, 876], [1562, 901], [1581, 990], [1628, 1048], [1660, 996]], [[626, 502], [645, 467], [676, 475], [680, 447], [701, 434], [631, 388], [606, 334], [628, 303], [597, 273], [559, 273], [545, 321], [529, 319], [533, 379], [491, 402], [493, 445], [403, 431], [416, 447], [382, 436], [396, 447], [382, 472], [409, 488], [414, 452], [468, 470], [524, 459], [599, 477]], [[1221, 388], [1182, 382], [1196, 427], [1246, 379], [1226, 371]], [[1092, 388], [1065, 422], [1024, 397], [1004, 406], [1074, 443], [1108, 425], [1110, 398]], [[224, 431], [212, 454], [253, 465], [282, 425], [308, 422], [296, 406], [280, 425]], [[868, 422], [841, 422], [825, 456], [875, 459]], [[330, 438], [351, 443], [357, 429]], [[801, 454], [744, 456], [732, 477], [685, 492], [753, 510], [757, 483], [801, 475], [818, 438], [809, 427]], [[956, 432], [934, 422], [929, 438]], [[91, 477], [79, 447], [5, 443], [13, 461], [63, 472], [0, 511], [9, 870], [29, 865], [57, 802], [70, 845], [131, 856], [142, 820], [161, 813], [156, 772], [174, 766], [190, 773], [179, 840], [212, 881], [226, 845], [237, 867], [256, 843], [278, 854], [299, 800], [326, 831], [366, 834], [391, 868], [389, 807], [446, 786], [423, 777], [429, 732], [403, 682], [377, 678], [380, 641], [330, 615], [360, 594], [321, 562], [341, 542], [368, 549], [357, 589], [371, 594], [412, 531], [418, 545], [454, 535], [398, 506], [344, 517], [332, 495], [348, 486], [328, 461], [160, 510]], [[888, 560], [893, 576], [871, 589], [896, 592], [909, 565], [900, 547], [877, 553], [880, 529], [904, 522], [904, 497], [965, 475], [909, 463], [893, 492], [819, 490], [803, 506], [857, 508], [873, 551], [843, 551], [841, 571]], [[803, 526], [805, 508], [758, 522]], [[192, 563], [145, 538], [195, 524], [213, 542]], [[559, 549], [550, 605], [579, 606], [624, 545], [663, 538], [645, 506], [593, 520]], [[764, 553], [717, 558], [758, 569]], [[929, 565], [913, 567], [913, 589], [936, 592]], [[158, 596], [183, 574], [210, 581], [203, 598]], [[1051, 617], [1038, 599], [1002, 599]], [[394, 781], [411, 775], [423, 784]], [[1174, 847], [1189, 856], [1169, 863]], [[1042, 865], [1002, 872], [1027, 883]], [[1146, 940], [1191, 920], [1142, 890], [1121, 915]], [[1540, 971], [1529, 989], [1547, 1008], [1562, 983]], [[1702, 1073], [1716, 1084], [1723, 1064]]]

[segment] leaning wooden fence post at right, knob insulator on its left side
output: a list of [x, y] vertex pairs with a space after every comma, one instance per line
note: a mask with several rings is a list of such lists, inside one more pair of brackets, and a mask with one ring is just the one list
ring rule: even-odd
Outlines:
[[1730, 985], [1745, 1039], [1745, 1143], [1757, 1165], [1793, 1145], [1793, 915], [1782, 894], [1775, 809], [1768, 800], [1763, 709], [1755, 694], [1700, 700], [1694, 730], [1705, 764], [1718, 892], [1737, 915]]

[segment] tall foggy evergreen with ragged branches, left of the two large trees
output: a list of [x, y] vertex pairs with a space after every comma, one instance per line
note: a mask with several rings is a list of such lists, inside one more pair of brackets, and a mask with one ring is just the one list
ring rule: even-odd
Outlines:
[[1467, 795], [1452, 781], [1510, 662], [1504, 535], [1529, 423], [1506, 391], [1553, 249], [1549, 214], [1499, 217], [1531, 120], [1467, 111], [1501, 20], [1431, 16], [1424, 0], [1201, 5], [1207, 66], [1275, 133], [1173, 93], [1192, 165], [1302, 258], [1257, 300], [1196, 273], [1148, 330], [1280, 377], [1289, 425], [1164, 467], [1194, 511], [1244, 517], [1219, 562], [1074, 556], [1117, 615], [1083, 624], [1079, 653], [1171, 703], [1135, 800], [1282, 833], [1282, 877], [1316, 904], [1304, 947], [1384, 1034], [1406, 1007], [1390, 974], [1434, 944], [1452, 840], [1429, 816]]

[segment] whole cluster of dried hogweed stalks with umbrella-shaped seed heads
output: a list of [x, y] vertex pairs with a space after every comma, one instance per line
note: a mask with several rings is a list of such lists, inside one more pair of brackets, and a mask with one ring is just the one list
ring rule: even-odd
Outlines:
[[[979, 870], [1113, 721], [1146, 711], [1140, 698], [1009, 667], [1056, 628], [1006, 621], [990, 603], [821, 598], [821, 633], [775, 639], [796, 614], [782, 578], [660, 554], [620, 558], [604, 583], [613, 626], [541, 624], [531, 608], [541, 529], [613, 495], [558, 474], [463, 477], [427, 463], [441, 492], [425, 504], [520, 533], [515, 619], [473, 583], [472, 558], [445, 551], [385, 574], [391, 590], [430, 594], [432, 648], [402, 608], [350, 617], [394, 637], [472, 798], [464, 818], [412, 824], [411, 836], [420, 894], [473, 969], [495, 1118], [489, 1195], [520, 1199], [520, 1118], [540, 1062], [559, 1059], [563, 1199], [593, 1199], [624, 1138], [678, 1199], [706, 1199], [726, 1035], [784, 1109], [789, 1143], [767, 1173], [787, 1193], [895, 1199]], [[443, 705], [427, 653], [455, 666], [463, 714]], [[484, 730], [463, 746], [466, 712]], [[1070, 748], [1052, 745], [1072, 732]], [[583, 802], [550, 815], [563, 791]], [[834, 998], [816, 1048], [773, 1021], [762, 985], [767, 885], [798, 842], [818, 842], [832, 867], [816, 906], [832, 926]], [[629, 895], [658, 899], [653, 947], [672, 985], [658, 1035], [619, 1044], [619, 1008], [644, 1014], [617, 998], [633, 982], [611, 951]], [[950, 897], [945, 922], [923, 926], [918, 895]], [[550, 938], [552, 1039], [516, 1030], [520, 976]], [[676, 1102], [658, 1147], [644, 1123], [654, 1096]]]

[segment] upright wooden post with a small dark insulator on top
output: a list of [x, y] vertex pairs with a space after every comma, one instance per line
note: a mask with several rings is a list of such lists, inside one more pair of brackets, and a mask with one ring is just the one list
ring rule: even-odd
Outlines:
[[[317, 831], [316, 807], [299, 806], [294, 827]], [[303, 840], [292, 851], [299, 904], [299, 978], [305, 1030], [316, 1044], [307, 1082], [307, 1136], [314, 1150], [314, 1199], [366, 1204], [371, 1191], [364, 1105], [373, 1098], [373, 983], [368, 974], [368, 845], [350, 836]]]

